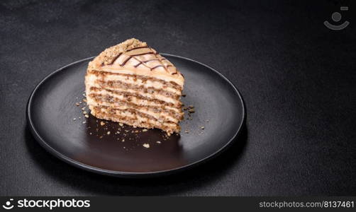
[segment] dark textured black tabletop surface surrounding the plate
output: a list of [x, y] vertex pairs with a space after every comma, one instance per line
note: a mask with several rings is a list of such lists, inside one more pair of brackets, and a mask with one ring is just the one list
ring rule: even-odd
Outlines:
[[[1, 1], [1, 195], [356, 195], [351, 1]], [[340, 6], [350, 26], [328, 30]], [[216, 160], [158, 179], [74, 168], [26, 128], [28, 97], [61, 66], [130, 37], [238, 87], [246, 129]], [[55, 123], [53, 123], [55, 124]]]

